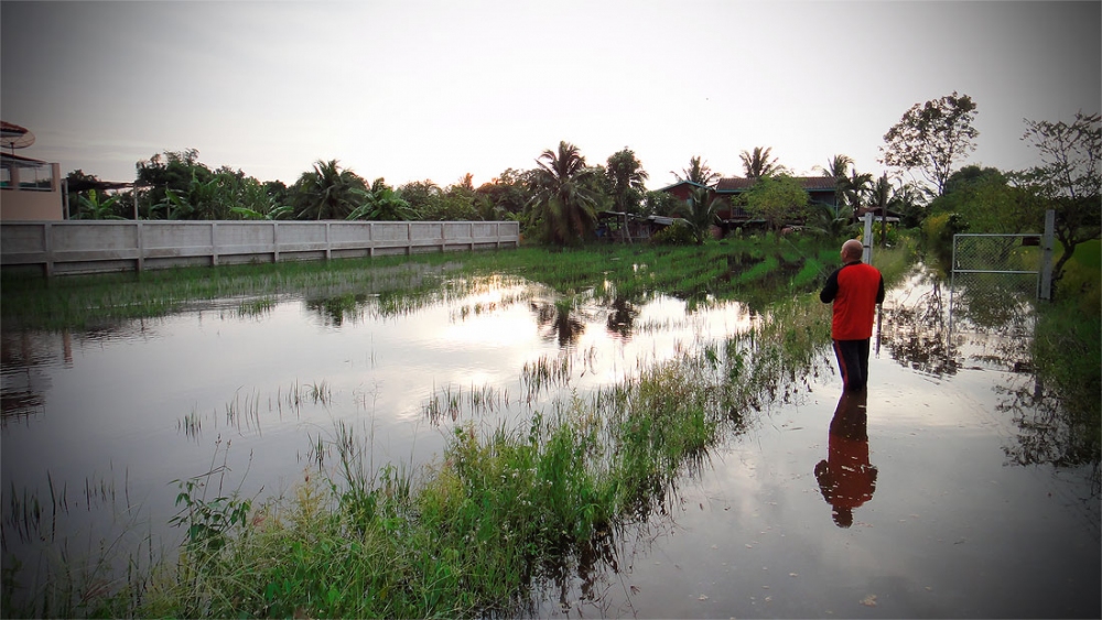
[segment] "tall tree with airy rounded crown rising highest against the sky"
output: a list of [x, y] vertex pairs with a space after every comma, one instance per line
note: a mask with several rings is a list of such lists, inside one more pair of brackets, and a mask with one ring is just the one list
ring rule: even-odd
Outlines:
[[947, 95], [926, 104], [915, 104], [884, 134], [880, 146], [885, 165], [918, 170], [944, 193], [953, 165], [975, 150], [979, 130], [972, 127], [976, 106], [968, 95]]

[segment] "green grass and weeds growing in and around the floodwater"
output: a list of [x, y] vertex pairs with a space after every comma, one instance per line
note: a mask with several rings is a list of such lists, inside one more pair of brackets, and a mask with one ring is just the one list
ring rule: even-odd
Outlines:
[[[915, 260], [907, 239], [879, 252], [877, 265], [889, 282]], [[202, 300], [234, 300], [242, 313], [262, 313], [302, 297], [339, 322], [372, 298], [380, 312], [397, 315], [491, 274], [553, 289], [559, 301], [549, 320], [561, 322], [560, 330], [570, 329], [573, 300], [581, 296], [614, 307], [659, 294], [690, 307], [738, 300], [756, 318], [750, 329], [681, 347], [615, 385], [541, 409], [522, 427], [456, 424], [440, 457], [417, 467], [376, 464], [366, 438], [339, 424], [335, 463], [280, 497], [212, 498], [201, 482], [213, 488], [225, 475], [217, 460], [205, 478], [180, 472], [179, 553], [144, 565], [133, 559], [125, 576], [55, 570], [34, 581], [31, 596], [19, 597], [17, 589], [31, 580], [6, 563], [4, 616], [519, 613], [533, 587], [606, 557], [625, 529], [663, 509], [679, 477], [705, 466], [717, 443], [829, 366], [829, 314], [811, 293], [836, 255], [834, 242], [769, 233], [679, 248], [528, 247], [52, 282], [6, 279], [6, 330], [163, 316]], [[1069, 272], [1066, 285], [1089, 289], [1090, 272], [1077, 273]], [[1084, 454], [1076, 456], [1096, 459], [1098, 369], [1082, 358], [1098, 359], [1098, 325], [1076, 318], [1082, 314], [1077, 303], [1041, 313], [1036, 363], [1083, 416], [1074, 432], [1084, 438], [1074, 445]], [[1081, 356], [1069, 360], [1059, 352], [1069, 347]], [[553, 361], [525, 368], [532, 383], [553, 382], [555, 372]], [[326, 398], [324, 384], [311, 389], [315, 400]], [[436, 411], [447, 406], [437, 403]]]

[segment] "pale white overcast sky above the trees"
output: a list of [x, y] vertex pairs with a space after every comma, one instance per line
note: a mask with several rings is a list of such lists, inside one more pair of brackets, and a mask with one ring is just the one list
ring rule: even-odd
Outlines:
[[0, 116], [20, 154], [106, 181], [197, 149], [294, 182], [336, 159], [370, 182], [590, 164], [628, 146], [648, 187], [702, 156], [798, 174], [835, 153], [879, 174], [884, 133], [953, 90], [968, 163], [1035, 163], [1024, 118], [1102, 108], [1102, 2], [0, 2]]

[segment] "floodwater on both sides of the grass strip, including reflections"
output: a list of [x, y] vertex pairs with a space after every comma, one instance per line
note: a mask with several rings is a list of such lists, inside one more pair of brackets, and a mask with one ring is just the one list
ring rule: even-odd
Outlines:
[[[810, 390], [750, 414], [663, 513], [538, 588], [534, 614], [1100, 617], [1098, 464], [1047, 465], [1060, 446], [1023, 429], [1048, 411], [1029, 313], [952, 325], [949, 306], [916, 271], [884, 304], [865, 394], [842, 398], [823, 357]], [[753, 320], [742, 304], [662, 296], [564, 315], [549, 291], [487, 279], [397, 314], [370, 296], [226, 300], [84, 333], [6, 330], [4, 567], [95, 548], [120, 524], [171, 547], [181, 532], [159, 524], [174, 480], [226, 465], [227, 490], [284, 492], [332, 465], [341, 424], [375, 466], [425, 463], [454, 424], [523, 424]], [[548, 366], [569, 381], [534, 385], [526, 367]]]

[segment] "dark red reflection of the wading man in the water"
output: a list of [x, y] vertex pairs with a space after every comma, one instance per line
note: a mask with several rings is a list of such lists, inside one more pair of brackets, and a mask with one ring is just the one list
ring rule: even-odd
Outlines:
[[853, 509], [873, 499], [876, 468], [868, 464], [867, 392], [842, 391], [830, 421], [827, 460], [815, 465], [819, 489], [839, 527], [853, 525]]

